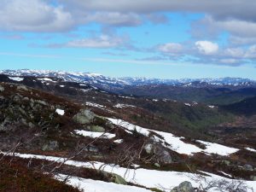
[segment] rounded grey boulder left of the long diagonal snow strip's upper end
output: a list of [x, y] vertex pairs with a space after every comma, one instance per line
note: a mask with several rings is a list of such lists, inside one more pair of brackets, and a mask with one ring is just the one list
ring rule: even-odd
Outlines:
[[96, 114], [88, 109], [81, 109], [79, 113], [73, 116], [73, 120], [79, 124], [90, 124], [95, 119]]

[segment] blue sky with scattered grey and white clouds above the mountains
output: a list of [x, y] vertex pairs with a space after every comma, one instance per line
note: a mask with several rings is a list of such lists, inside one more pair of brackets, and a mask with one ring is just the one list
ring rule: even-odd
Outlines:
[[256, 79], [255, 0], [1, 0], [0, 69]]

